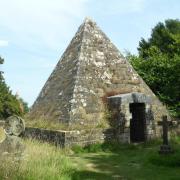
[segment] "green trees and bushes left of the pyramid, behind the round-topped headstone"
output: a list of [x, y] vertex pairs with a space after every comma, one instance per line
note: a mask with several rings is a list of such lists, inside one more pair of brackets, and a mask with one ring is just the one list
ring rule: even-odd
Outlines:
[[[0, 57], [0, 66], [2, 66], [3, 62], [4, 59]], [[23, 116], [26, 112], [28, 112], [27, 103], [22, 98], [17, 98], [12, 94], [4, 80], [3, 72], [0, 71], [0, 119], [13, 114]]]

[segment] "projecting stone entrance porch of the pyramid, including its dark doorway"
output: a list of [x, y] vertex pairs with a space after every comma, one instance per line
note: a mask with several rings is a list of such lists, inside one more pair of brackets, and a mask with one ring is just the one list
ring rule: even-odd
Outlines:
[[110, 122], [121, 142], [144, 142], [155, 136], [151, 97], [143, 93], [127, 93], [108, 97]]

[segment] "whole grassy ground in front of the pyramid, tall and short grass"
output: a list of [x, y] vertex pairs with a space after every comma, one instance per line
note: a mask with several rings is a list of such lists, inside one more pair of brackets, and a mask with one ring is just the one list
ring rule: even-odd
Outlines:
[[160, 142], [139, 145], [95, 144], [86, 148], [59, 149], [48, 143], [25, 140], [19, 165], [0, 162], [0, 179], [12, 180], [179, 180], [180, 141], [175, 153], [159, 155]]

